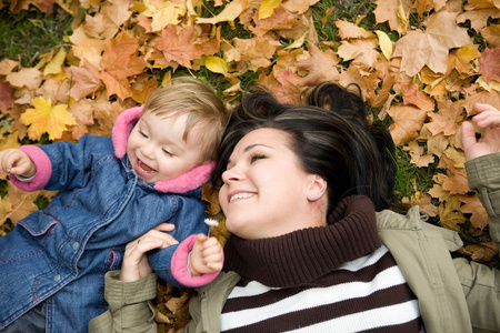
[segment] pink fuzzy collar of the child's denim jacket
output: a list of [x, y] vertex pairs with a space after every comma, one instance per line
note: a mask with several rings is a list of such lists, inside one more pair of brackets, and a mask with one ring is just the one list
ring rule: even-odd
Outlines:
[[[127, 142], [130, 131], [139, 121], [141, 112], [142, 107], [131, 108], [121, 112], [114, 121], [111, 138], [117, 158], [127, 158]], [[164, 193], [186, 193], [196, 190], [209, 181], [214, 167], [214, 162], [196, 167], [174, 179], [156, 182], [153, 188]]]

